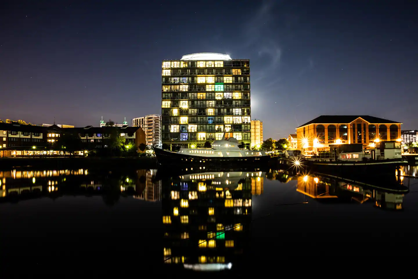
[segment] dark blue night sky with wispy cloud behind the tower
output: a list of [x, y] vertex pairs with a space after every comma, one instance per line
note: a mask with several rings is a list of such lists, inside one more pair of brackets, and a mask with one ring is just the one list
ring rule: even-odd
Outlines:
[[413, 3], [1, 1], [0, 119], [130, 124], [161, 114], [162, 59], [219, 52], [251, 60], [264, 138], [319, 115], [418, 129]]

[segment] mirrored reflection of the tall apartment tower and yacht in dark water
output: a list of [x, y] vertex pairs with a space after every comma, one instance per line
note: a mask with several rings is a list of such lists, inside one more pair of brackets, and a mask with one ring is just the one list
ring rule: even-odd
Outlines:
[[265, 172], [189, 173], [163, 180], [163, 261], [194, 271], [234, 269], [249, 243], [252, 195]]

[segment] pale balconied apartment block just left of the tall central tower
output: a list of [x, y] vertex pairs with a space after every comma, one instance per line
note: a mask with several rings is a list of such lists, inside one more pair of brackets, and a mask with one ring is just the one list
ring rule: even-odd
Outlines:
[[134, 118], [133, 127], [141, 127], [145, 132], [147, 145], [161, 146], [161, 115], [151, 114]]

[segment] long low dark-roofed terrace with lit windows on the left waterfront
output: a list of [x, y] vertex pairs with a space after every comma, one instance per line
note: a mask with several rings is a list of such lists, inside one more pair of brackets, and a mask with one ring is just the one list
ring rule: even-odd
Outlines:
[[[44, 156], [64, 155], [60, 138], [63, 133], [77, 134], [83, 146], [89, 148], [107, 148], [103, 140], [112, 133], [118, 133], [125, 138], [125, 143], [130, 142], [139, 148], [145, 144], [145, 133], [140, 127], [93, 127], [61, 128], [52, 126], [19, 125], [16, 123], [0, 123], [0, 157], [11, 156]], [[139, 150], [139, 149], [138, 149]]]

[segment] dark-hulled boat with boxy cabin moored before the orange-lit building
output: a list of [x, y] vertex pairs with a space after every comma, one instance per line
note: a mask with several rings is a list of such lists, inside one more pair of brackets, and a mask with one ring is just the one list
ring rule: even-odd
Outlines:
[[368, 147], [362, 143], [332, 145], [330, 149], [303, 157], [301, 164], [318, 172], [350, 175], [394, 173], [405, 164], [397, 141], [377, 142]]

